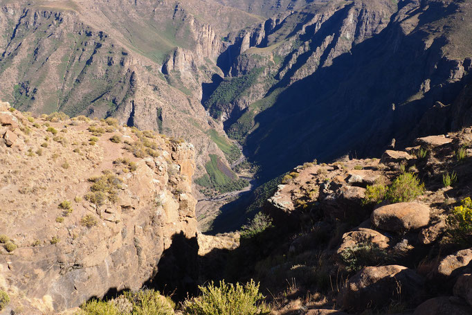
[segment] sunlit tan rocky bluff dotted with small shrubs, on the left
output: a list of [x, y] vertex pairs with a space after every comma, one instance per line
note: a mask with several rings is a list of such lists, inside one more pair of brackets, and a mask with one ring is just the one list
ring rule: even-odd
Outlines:
[[196, 243], [192, 145], [113, 120], [0, 109], [0, 226], [17, 247], [0, 248], [5, 312], [43, 314], [138, 289], [176, 239]]

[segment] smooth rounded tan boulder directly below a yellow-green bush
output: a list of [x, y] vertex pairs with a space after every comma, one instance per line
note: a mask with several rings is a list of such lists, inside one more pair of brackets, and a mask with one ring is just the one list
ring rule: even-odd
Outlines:
[[428, 206], [413, 202], [401, 202], [376, 208], [370, 219], [374, 226], [385, 231], [403, 232], [426, 226], [429, 217]]

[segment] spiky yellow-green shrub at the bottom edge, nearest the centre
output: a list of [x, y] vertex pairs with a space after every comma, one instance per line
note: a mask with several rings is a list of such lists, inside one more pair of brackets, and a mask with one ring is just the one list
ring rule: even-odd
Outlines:
[[259, 292], [259, 285], [253, 280], [246, 285], [227, 284], [219, 282], [216, 287], [213, 282], [207, 287], [199, 287], [201, 296], [185, 300], [183, 309], [188, 315], [255, 315], [269, 314], [269, 308], [264, 303], [257, 303], [264, 299]]

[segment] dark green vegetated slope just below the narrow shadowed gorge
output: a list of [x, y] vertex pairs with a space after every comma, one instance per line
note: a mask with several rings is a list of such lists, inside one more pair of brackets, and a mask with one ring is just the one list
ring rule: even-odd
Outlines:
[[213, 91], [210, 98], [205, 102], [205, 108], [210, 111], [210, 115], [214, 118], [219, 118], [224, 107], [251, 87], [263, 71], [264, 68], [253, 69], [246, 75], [236, 78], [226, 78], [221, 82], [217, 89]]

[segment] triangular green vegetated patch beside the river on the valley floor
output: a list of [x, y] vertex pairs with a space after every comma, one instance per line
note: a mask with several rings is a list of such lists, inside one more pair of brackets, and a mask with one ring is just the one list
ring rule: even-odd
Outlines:
[[218, 192], [240, 190], [248, 186], [246, 179], [238, 179], [236, 174], [219, 160], [216, 154], [209, 154], [210, 161], [206, 163], [207, 174], [195, 180], [195, 183], [205, 188], [212, 188]]

